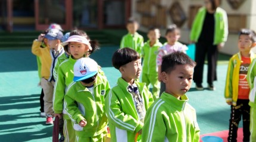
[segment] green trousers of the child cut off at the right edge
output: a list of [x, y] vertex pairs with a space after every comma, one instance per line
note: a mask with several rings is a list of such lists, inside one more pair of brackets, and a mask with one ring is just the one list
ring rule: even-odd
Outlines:
[[250, 142], [256, 142], [256, 108], [254, 106], [251, 106], [250, 132]]

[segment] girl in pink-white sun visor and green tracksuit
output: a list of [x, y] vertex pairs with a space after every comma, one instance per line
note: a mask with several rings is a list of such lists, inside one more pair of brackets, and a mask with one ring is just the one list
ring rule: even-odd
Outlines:
[[[75, 132], [72, 126], [72, 122], [65, 112], [64, 107], [64, 95], [67, 91], [68, 85], [73, 82], [74, 72], [73, 67], [74, 63], [82, 57], [86, 57], [88, 54], [93, 53], [98, 49], [98, 44], [93, 41], [88, 40], [88, 35], [82, 30], [71, 31], [70, 37], [68, 40], [63, 42], [63, 46], [68, 46], [68, 50], [71, 53], [71, 56], [67, 60], [64, 60], [58, 66], [57, 70], [57, 79], [54, 87], [54, 117], [59, 117], [64, 119], [64, 137], [67, 141], [75, 140]], [[63, 139], [61, 137], [60, 139]]]

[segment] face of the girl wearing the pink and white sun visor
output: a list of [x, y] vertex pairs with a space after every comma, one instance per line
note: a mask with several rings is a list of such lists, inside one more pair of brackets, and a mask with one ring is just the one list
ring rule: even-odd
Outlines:
[[89, 47], [86, 44], [78, 42], [70, 42], [68, 47], [71, 55], [76, 60], [82, 58], [89, 51]]

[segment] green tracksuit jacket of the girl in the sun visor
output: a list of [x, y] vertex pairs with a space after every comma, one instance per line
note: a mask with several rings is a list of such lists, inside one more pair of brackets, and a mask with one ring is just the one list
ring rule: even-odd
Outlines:
[[65, 119], [69, 119], [69, 117], [65, 115], [67, 112], [65, 112], [65, 109], [63, 108], [64, 95], [68, 85], [73, 82], [74, 63], [76, 63], [76, 60], [70, 56], [67, 60], [60, 64], [54, 86], [54, 112], [56, 114], [64, 114]]

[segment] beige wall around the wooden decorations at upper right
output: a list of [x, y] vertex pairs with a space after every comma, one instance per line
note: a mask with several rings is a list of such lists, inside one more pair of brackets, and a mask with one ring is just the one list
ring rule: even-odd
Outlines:
[[[136, 1], [138, 0], [133, 0], [132, 1], [132, 17], [135, 18], [138, 21], [141, 21], [142, 15], [136, 12]], [[146, 0], [149, 1], [149, 0]], [[167, 10], [170, 8], [171, 4], [174, 2], [174, 0], [161, 0], [161, 5], [167, 7]], [[189, 15], [189, 6], [190, 5], [204, 5], [203, 0], [179, 0], [183, 10], [186, 13], [186, 17], [188, 18]], [[222, 0], [222, 4], [220, 5], [221, 8], [225, 9], [227, 14], [245, 14], [246, 15], [246, 27], [244, 28], [251, 28], [252, 30], [256, 31], [256, 1], [255, 0], [246, 0], [243, 2], [241, 7], [239, 9], [232, 9], [230, 5], [227, 3], [226, 0]], [[154, 8], [151, 8], [154, 9]], [[170, 19], [170, 14], [167, 12], [167, 23], [166, 25], [172, 24], [172, 21]], [[147, 28], [141, 26], [140, 27], [141, 31], [147, 31]], [[183, 24], [182, 28], [182, 36], [180, 38], [180, 41], [189, 43], [189, 34], [190, 34], [190, 29], [188, 28], [188, 20]], [[161, 35], [164, 36], [165, 29], [161, 29]], [[235, 54], [238, 52], [238, 33], [229, 33], [229, 36], [227, 38], [227, 42], [225, 44], [225, 47], [220, 51], [221, 53], [226, 53], [226, 54]], [[253, 51], [256, 53], [256, 48], [253, 49]]]

